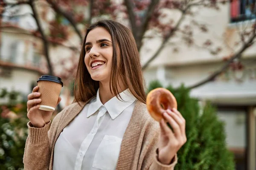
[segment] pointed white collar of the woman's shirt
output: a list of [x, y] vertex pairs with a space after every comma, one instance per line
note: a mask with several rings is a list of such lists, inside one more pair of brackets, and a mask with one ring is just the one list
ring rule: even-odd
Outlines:
[[[131, 94], [129, 89], [126, 89], [119, 95], [121, 96], [121, 98], [118, 96], [120, 100], [117, 98], [117, 96], [114, 96], [104, 105], [112, 119], [115, 119], [120, 113], [122, 113], [122, 111], [136, 101], [136, 98]], [[93, 115], [102, 105], [103, 104], [99, 99], [98, 89], [96, 98], [94, 98], [89, 105], [87, 117]]]

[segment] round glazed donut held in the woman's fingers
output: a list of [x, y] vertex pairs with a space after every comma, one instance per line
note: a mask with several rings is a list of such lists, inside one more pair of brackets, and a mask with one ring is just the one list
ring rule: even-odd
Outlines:
[[175, 96], [165, 88], [156, 88], [150, 91], [147, 95], [146, 104], [148, 112], [157, 122], [160, 122], [162, 114], [167, 109], [177, 109]]

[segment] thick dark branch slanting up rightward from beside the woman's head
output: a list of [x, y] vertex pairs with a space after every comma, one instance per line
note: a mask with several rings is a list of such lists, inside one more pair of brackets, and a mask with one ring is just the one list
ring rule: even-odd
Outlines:
[[151, 16], [154, 12], [154, 9], [158, 3], [159, 3], [159, 0], [151, 0], [150, 5], [148, 6], [148, 10], [146, 11], [145, 17], [143, 18], [142, 24], [140, 26], [140, 32], [139, 32], [138, 40], [137, 40], [138, 51], [140, 51], [143, 35], [145, 34], [145, 31], [148, 28], [148, 23], [149, 23]]

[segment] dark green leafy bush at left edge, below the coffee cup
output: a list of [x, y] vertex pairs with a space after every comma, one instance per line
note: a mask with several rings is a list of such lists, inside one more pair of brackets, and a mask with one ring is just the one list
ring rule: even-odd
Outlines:
[[[0, 89], [0, 98], [6, 103], [0, 104], [0, 170], [23, 170], [23, 153], [28, 135], [26, 101], [17, 91]], [[6, 109], [17, 119], [6, 118]]]

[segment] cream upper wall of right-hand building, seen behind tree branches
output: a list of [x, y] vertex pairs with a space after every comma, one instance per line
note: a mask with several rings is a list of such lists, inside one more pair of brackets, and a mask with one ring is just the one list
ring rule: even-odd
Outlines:
[[[232, 51], [236, 52], [240, 49], [241, 45], [234, 46], [236, 40], [239, 40], [239, 34], [235, 24], [230, 23], [230, 10], [229, 4], [221, 5], [220, 10], [216, 11], [214, 9], [208, 8], [196, 8], [194, 20], [198, 23], [207, 25], [209, 31], [207, 33], [201, 32], [197, 27], [193, 26], [191, 23], [191, 17], [186, 17], [180, 28], [184, 25], [192, 26], [193, 37], [195, 44], [192, 47], [186, 45], [180, 36], [172, 37], [170, 39], [171, 44], [166, 45], [166, 47], [160, 52], [159, 56], [154, 59], [149, 67], [155, 67], [160, 65], [187, 65], [199, 62], [216, 62], [221, 61], [223, 57], [227, 57]], [[180, 18], [180, 14], [177, 11], [167, 11], [168, 16], [177, 22]], [[248, 25], [247, 25], [248, 24]], [[240, 24], [239, 28], [244, 28], [245, 26], [251, 27], [251, 22], [244, 22]], [[150, 33], [151, 35], [156, 35], [155, 33]], [[222, 51], [217, 55], [210, 54], [203, 43], [205, 40], [211, 40], [213, 44], [213, 49], [216, 47], [221, 47]], [[144, 40], [144, 45], [140, 51], [142, 63], [144, 64], [157, 50], [161, 43], [159, 36], [153, 39]], [[178, 52], [174, 52], [173, 49], [177, 47]], [[231, 48], [233, 49], [231, 49]], [[245, 53], [245, 57], [254, 57], [256, 55], [256, 45], [250, 47]]]

